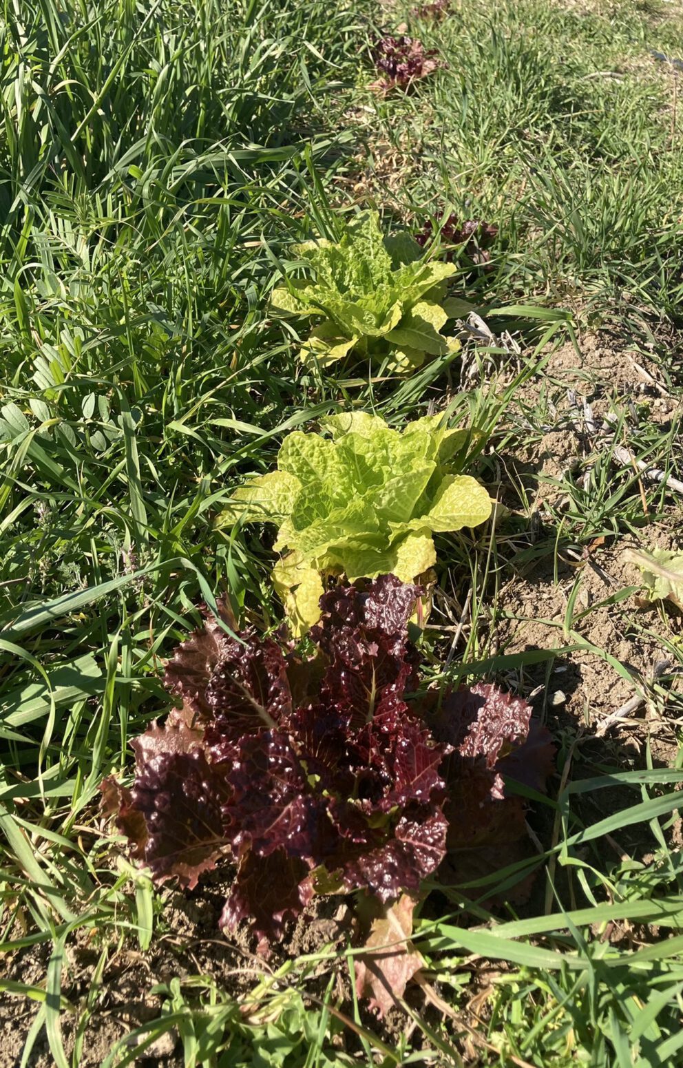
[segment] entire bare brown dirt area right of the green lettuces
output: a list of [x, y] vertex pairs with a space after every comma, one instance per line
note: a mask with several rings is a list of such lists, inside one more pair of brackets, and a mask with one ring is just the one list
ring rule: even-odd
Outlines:
[[[676, 464], [681, 441], [676, 427], [683, 417], [680, 392], [654, 354], [636, 351], [607, 330], [585, 335], [577, 347], [557, 349], [520, 391], [508, 421], [521, 441], [499, 457], [501, 486], [506, 505], [518, 515], [522, 505], [527, 540], [515, 541], [514, 535], [506, 539], [502, 527], [501, 554], [507, 559], [501, 574], [506, 584], [497, 599], [494, 631], [494, 647], [505, 654], [570, 645], [572, 632], [577, 634], [587, 647], [555, 661], [550, 677], [543, 665], [525, 669], [525, 678], [513, 685], [525, 692], [539, 687], [537, 710], [560, 727], [571, 725], [572, 732], [594, 729], [641, 693], [647, 700], [631, 717], [640, 724], [634, 736], [641, 739], [647, 724], [669, 756], [676, 748], [676, 723], [667, 720], [661, 691], [670, 689], [678, 701], [683, 689], [683, 649], [677, 644], [681, 619], [674, 609], [644, 603], [639, 591], [623, 596], [623, 591], [641, 584], [624, 550], [680, 549], [683, 500], [676, 491], [668, 494], [667, 518], [656, 523], [647, 522], [644, 505], [644, 529], [637, 535], [604, 534], [579, 546], [569, 541], [571, 534], [562, 537], [558, 521], [572, 511], [572, 486], [589, 494], [597, 457], [615, 444], [610, 412], [625, 413], [626, 434], [634, 437], [644, 427], [652, 433], [652, 424], [656, 434], [672, 434]], [[683, 472], [674, 474], [680, 478]], [[653, 483], [644, 476], [642, 485]], [[579, 505], [574, 502], [572, 507]], [[663, 670], [665, 661], [670, 666]], [[657, 686], [655, 697], [657, 673], [666, 681]], [[680, 708], [676, 714], [682, 712]]]

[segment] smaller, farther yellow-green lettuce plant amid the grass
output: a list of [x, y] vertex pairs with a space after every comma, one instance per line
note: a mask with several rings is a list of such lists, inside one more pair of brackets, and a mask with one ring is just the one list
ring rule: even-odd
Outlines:
[[444, 299], [456, 267], [427, 262], [409, 234], [385, 236], [377, 211], [355, 216], [337, 244], [306, 241], [295, 252], [307, 277], [287, 278], [271, 308], [321, 318], [301, 348], [305, 363], [327, 366], [353, 352], [406, 372], [427, 356], [458, 351], [459, 343], [441, 333], [448, 318], [472, 309]]

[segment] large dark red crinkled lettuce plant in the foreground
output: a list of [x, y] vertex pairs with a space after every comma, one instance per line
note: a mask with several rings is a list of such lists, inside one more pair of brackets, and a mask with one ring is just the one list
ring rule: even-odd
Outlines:
[[[415, 431], [420, 451], [428, 430]], [[418, 891], [446, 853], [444, 878], [465, 881], [494, 865], [496, 847], [508, 855], [524, 843], [524, 802], [505, 780], [543, 787], [547, 734], [529, 729], [525, 702], [492, 686], [441, 702], [428, 691], [409, 707], [418, 655], [408, 622], [420, 595], [391, 574], [330, 590], [312, 659], [309, 646], [213, 633], [209, 619], [170, 678], [193, 694], [202, 721], [153, 724], [134, 745], [133, 787], [102, 783], [104, 807], [158, 880], [192, 886], [232, 851], [239, 866], [223, 923], [249, 918], [261, 952], [314, 888], [388, 902]], [[288, 672], [293, 680], [307, 664], [311, 686], [290, 684]]]

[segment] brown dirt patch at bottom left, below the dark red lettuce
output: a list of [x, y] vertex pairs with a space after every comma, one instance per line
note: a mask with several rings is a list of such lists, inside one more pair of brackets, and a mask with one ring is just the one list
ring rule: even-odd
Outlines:
[[[234, 938], [225, 938], [219, 928], [231, 876], [232, 869], [216, 870], [204, 877], [193, 892], [166, 890], [158, 932], [144, 953], [132, 939], [127, 939], [123, 945], [115, 942], [108, 945], [106, 928], [96, 937], [88, 928], [74, 932], [66, 946], [62, 994], [76, 1011], [62, 1012], [61, 1031], [67, 1057], [73, 1055], [77, 1028], [83, 1033], [79, 1068], [100, 1068], [112, 1046], [142, 1024], [161, 1017], [164, 994], [152, 992], [157, 984], [168, 985], [174, 979], [182, 984], [190, 977], [206, 976], [234, 1001], [244, 1005], [259, 981], [285, 961], [297, 959], [303, 953], [319, 953], [330, 943], [336, 948], [346, 944], [350, 921], [346, 906], [340, 905], [339, 898], [318, 898], [297, 923], [290, 925], [287, 937], [273, 948], [268, 960], [257, 957], [255, 940], [245, 927]], [[16, 951], [3, 961], [4, 977], [44, 987], [50, 952], [48, 943]], [[102, 954], [107, 960], [94, 989], [94, 976]], [[346, 964], [340, 967], [335, 956], [321, 958], [320, 967], [312, 970], [301, 988], [314, 996], [322, 996], [333, 970], [336, 971], [338, 996], [349, 1001], [351, 991]], [[277, 989], [287, 985], [285, 980]], [[186, 995], [191, 1003], [193, 996], [189, 988]], [[255, 1006], [254, 1011], [257, 1008]], [[18, 1068], [37, 1011], [35, 1002], [0, 994], [0, 1068]], [[244, 1018], [249, 1022], [249, 1011]], [[143, 1068], [153, 1065], [182, 1068], [185, 1059], [176, 1031], [164, 1030], [141, 1052], [136, 1064]], [[44, 1031], [27, 1065], [28, 1068], [53, 1068], [54, 1061]]]

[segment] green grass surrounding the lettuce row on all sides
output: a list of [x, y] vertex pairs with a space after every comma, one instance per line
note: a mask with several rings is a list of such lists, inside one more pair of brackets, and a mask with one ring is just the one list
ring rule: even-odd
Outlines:
[[[89, 1021], [101, 1024], [120, 955], [132, 945], [152, 959], [175, 937], [168, 894], [116, 860], [98, 784], [130, 773], [130, 738], [168, 707], [159, 666], [198, 600], [228, 591], [266, 623], [280, 617], [258, 531], [219, 534], [212, 521], [238, 481], [271, 467], [283, 433], [348, 403], [400, 426], [464, 382], [456, 415], [488, 427], [478, 474], [502, 485], [512, 514], [494, 535], [439, 545], [444, 595], [462, 607], [471, 590], [451, 676], [544, 685], [562, 624], [566, 643], [585, 648], [594, 606], [570, 596], [546, 648], [498, 647], [520, 564], [557, 569], [568, 545], [647, 541], [680, 522], [671, 494], [616, 467], [599, 437], [584, 441], [577, 470], [555, 476], [562, 500], [542, 513], [536, 482], [508, 465], [538, 458], [549, 427], [576, 421], [566, 378], [539, 364], [566, 337], [581, 344], [602, 326], [624, 361], [647, 357], [668, 396], [681, 395], [677, 76], [650, 56], [678, 54], [680, 12], [461, 0], [414, 27], [447, 66], [384, 100], [365, 88], [367, 42], [380, 18], [400, 17], [365, 0], [5, 2], [0, 944], [7, 962], [32, 953], [41, 965], [9, 963], [0, 978], [26, 1036], [10, 1053], [17, 1028], [5, 1032], [7, 1064], [132, 1063], [144, 1050], [117, 1041], [128, 1033], [148, 1063], [220, 1068], [665, 1068], [681, 1056], [683, 651], [664, 610], [634, 626], [670, 657], [646, 686], [650, 710], [668, 718], [666, 753], [654, 728], [636, 729], [639, 752], [601, 745], [543, 703], [559, 774], [535, 799], [531, 904], [521, 918], [511, 902], [488, 911], [491, 891], [505, 896], [519, 876], [504, 868], [423, 911], [428, 992], [403, 1006], [408, 1037], [340, 1001], [351, 951], [323, 947], [254, 964], [238, 993], [211, 969], [145, 973], [153, 1018], [120, 1021], [111, 1053], [92, 1046]], [[459, 261], [459, 285], [488, 309], [490, 344], [404, 381], [320, 380], [297, 363], [296, 339], [267, 317], [268, 292], [288, 246], [331, 232], [354, 201], [377, 203], [387, 225], [449, 204], [499, 226], [490, 270]], [[614, 413], [635, 457], [680, 477], [680, 409], [655, 418], [645, 396], [634, 420], [623, 391], [604, 376], [599, 387], [600, 418]], [[444, 596], [434, 624], [458, 619]], [[74, 962], [83, 944], [86, 981]], [[169, 1033], [180, 1040], [163, 1054], [154, 1043]]]

